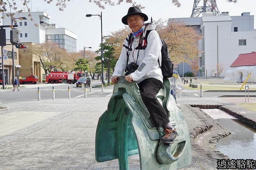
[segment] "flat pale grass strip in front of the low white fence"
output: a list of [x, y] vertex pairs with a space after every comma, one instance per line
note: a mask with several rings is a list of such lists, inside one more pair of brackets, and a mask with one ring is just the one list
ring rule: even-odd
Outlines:
[[[211, 86], [211, 85], [206, 85], [202, 84], [203, 86], [203, 91], [207, 90], [239, 90], [240, 87], [232, 87], [232, 85], [218, 85], [218, 86]], [[189, 84], [183, 85], [184, 89], [186, 90], [200, 90], [200, 84], [197, 85], [197, 88], [192, 88], [189, 87]], [[244, 87], [243, 87], [244, 90]], [[256, 90], [256, 88], [250, 88], [250, 90]]]

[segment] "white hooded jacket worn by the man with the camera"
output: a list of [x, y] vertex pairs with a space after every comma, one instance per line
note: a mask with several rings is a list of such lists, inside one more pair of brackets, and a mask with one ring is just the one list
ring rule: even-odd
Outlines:
[[[162, 41], [160, 40], [160, 37], [158, 33], [156, 32], [155, 29], [155, 24], [149, 24], [143, 33], [143, 37], [145, 37], [145, 34], [147, 30], [152, 30], [148, 34], [147, 38], [147, 47], [144, 49], [135, 49], [138, 44], [139, 44], [139, 39], [136, 41], [134, 40], [132, 42], [132, 51], [130, 51], [129, 55], [129, 63], [136, 63], [137, 56], [138, 56], [138, 51], [139, 51], [139, 57], [137, 61], [137, 65], [139, 68], [131, 73], [130, 75], [132, 76], [132, 79], [134, 81], [137, 81], [137, 83], [140, 83], [142, 80], [147, 79], [147, 78], [156, 78], [163, 82], [163, 75], [162, 75], [162, 70], [159, 67], [158, 64], [158, 59], [159, 63], [162, 61], [162, 56], [161, 56], [161, 48], [162, 48]], [[126, 62], [127, 62], [127, 51], [128, 51], [128, 38], [129, 35], [126, 37], [124, 40], [124, 45], [122, 48], [122, 52], [120, 54], [120, 57], [118, 61], [116, 62], [116, 67], [115, 71], [113, 73], [113, 76], [122, 76], [123, 72], [126, 67]], [[132, 57], [133, 54], [133, 57]]]

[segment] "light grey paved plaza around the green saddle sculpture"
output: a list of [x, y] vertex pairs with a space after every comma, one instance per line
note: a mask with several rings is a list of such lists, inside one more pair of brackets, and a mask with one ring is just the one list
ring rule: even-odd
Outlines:
[[[99, 163], [94, 155], [97, 122], [107, 109], [108, 100], [92, 97], [4, 104], [9, 111], [0, 112], [0, 169], [117, 170], [117, 159]], [[201, 121], [185, 105], [229, 102], [217, 97], [182, 97], [177, 103], [189, 129], [193, 129]], [[214, 130], [218, 128], [205, 132], [200, 140], [210, 137]], [[202, 144], [204, 147], [206, 143]], [[129, 165], [130, 169], [139, 168], [138, 155], [129, 159]], [[216, 159], [192, 148], [192, 163], [184, 170], [192, 169], [216, 169]]]

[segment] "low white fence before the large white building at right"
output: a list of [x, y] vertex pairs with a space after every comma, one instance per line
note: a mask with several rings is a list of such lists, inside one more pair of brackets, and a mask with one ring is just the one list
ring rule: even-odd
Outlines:
[[209, 85], [236, 85], [236, 80], [224, 80], [223, 78], [215, 79], [197, 79], [192, 80], [192, 84], [209, 84]]

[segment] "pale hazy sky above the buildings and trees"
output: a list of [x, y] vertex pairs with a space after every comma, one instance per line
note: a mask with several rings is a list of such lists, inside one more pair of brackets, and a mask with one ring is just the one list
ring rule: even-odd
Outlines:
[[[67, 2], [67, 8], [64, 11], [59, 11], [59, 7], [55, 5], [56, 0], [53, 0], [51, 4], [47, 4], [43, 0], [30, 1], [32, 2], [32, 12], [45, 10], [51, 15], [52, 19], [49, 20], [49, 24], [57, 24], [77, 34], [77, 51], [83, 50], [84, 46], [92, 47], [92, 50], [95, 51], [101, 43], [99, 17], [87, 18], [86, 14], [100, 15], [102, 11], [102, 32], [103, 36], [107, 36], [124, 27], [121, 19], [131, 7], [131, 4], [125, 3], [125, 0], [121, 5], [105, 5], [106, 9], [104, 10], [96, 4], [90, 3], [89, 0], [71, 0]], [[117, 0], [113, 1], [117, 2]], [[203, 2], [203, 0], [201, 1]], [[194, 4], [194, 0], [180, 0], [181, 6], [178, 8], [172, 4], [171, 0], [137, 0], [136, 2], [145, 7], [141, 11], [147, 14], [149, 19], [152, 17], [153, 20], [190, 17]], [[216, 2], [220, 13], [228, 11], [230, 16], [240, 16], [243, 12], [251, 12], [251, 15], [256, 15], [256, 0], [238, 0], [236, 4], [228, 3], [226, 0], [216, 0]], [[23, 5], [20, 3], [18, 7], [22, 8]], [[254, 28], [256, 29], [255, 19]]]

